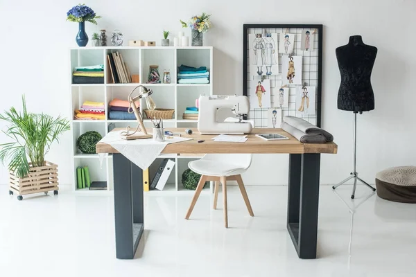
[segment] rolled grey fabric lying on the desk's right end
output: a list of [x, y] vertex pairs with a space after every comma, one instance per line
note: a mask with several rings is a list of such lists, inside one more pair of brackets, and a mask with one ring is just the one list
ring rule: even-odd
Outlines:
[[329, 132], [295, 116], [285, 116], [281, 123], [281, 129], [295, 136], [301, 143], [327, 143], [333, 141], [333, 136]]

